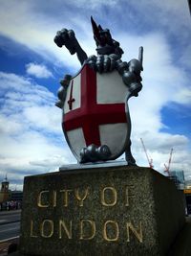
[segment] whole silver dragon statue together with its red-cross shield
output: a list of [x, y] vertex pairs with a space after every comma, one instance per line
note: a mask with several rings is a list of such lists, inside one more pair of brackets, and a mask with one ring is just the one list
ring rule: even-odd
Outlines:
[[97, 56], [88, 57], [73, 30], [58, 31], [54, 42], [76, 53], [82, 67], [60, 81], [58, 102], [63, 109], [62, 128], [80, 163], [114, 160], [123, 152], [128, 165], [136, 165], [131, 153], [131, 119], [128, 100], [142, 88], [140, 72], [143, 48], [138, 59], [122, 61], [123, 50], [108, 29], [91, 17]]

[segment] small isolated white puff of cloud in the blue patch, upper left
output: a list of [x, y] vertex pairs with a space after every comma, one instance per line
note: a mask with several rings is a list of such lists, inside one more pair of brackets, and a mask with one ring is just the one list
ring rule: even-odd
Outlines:
[[43, 64], [36, 63], [26, 64], [26, 72], [28, 75], [32, 75], [38, 79], [48, 79], [53, 77], [53, 73]]

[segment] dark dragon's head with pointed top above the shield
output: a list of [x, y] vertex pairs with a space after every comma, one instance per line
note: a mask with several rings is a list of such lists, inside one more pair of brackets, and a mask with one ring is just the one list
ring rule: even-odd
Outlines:
[[95, 20], [91, 16], [94, 38], [96, 41], [96, 52], [100, 55], [116, 54], [121, 58], [123, 50], [119, 47], [119, 42], [112, 38], [108, 29], [102, 29], [101, 25], [96, 25]]

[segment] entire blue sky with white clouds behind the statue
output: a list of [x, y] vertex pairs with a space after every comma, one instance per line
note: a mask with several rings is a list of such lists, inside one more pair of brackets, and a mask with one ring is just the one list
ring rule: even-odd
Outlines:
[[[88, 3], [88, 4], [87, 4]], [[191, 179], [191, 17], [186, 0], [0, 0], [0, 180], [21, 189], [25, 175], [75, 163], [54, 106], [59, 80], [74, 75], [76, 56], [53, 43], [56, 31], [73, 29], [88, 56], [96, 54], [90, 16], [109, 28], [125, 52], [144, 47], [143, 89], [131, 98], [132, 151], [148, 166], [140, 138], [163, 173]], [[123, 157], [123, 156], [122, 156]]]

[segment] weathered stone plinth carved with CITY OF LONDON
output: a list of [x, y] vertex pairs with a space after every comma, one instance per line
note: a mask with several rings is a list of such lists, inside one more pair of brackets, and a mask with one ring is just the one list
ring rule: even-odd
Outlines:
[[163, 256], [183, 224], [174, 183], [149, 168], [34, 175], [25, 178], [19, 251], [33, 256]]

